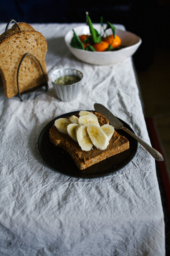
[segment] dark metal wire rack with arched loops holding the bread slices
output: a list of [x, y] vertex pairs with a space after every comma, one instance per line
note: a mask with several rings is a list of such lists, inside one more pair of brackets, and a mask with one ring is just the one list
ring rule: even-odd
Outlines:
[[[14, 22], [14, 23], [17, 25], [18, 30], [20, 30], [20, 27], [19, 27], [18, 23], [17, 23], [14, 19], [11, 19], [11, 20], [7, 23], [7, 25], [6, 25], [6, 28], [5, 28], [5, 36], [7, 35], [7, 29], [8, 29], [8, 26], [11, 24], [11, 22]], [[34, 57], [35, 60], [38, 62], [39, 66], [40, 66], [40, 68], [41, 68], [41, 71], [42, 71], [42, 73], [43, 73], [45, 82], [44, 82], [43, 84], [40, 84], [40, 85], [38, 85], [38, 86], [35, 86], [35, 87], [31, 88], [31, 89], [28, 89], [28, 90], [23, 91], [22, 93], [20, 93], [20, 90], [19, 90], [19, 81], [18, 81], [19, 69], [20, 69], [20, 66], [21, 66], [22, 61], [24, 60], [24, 58], [25, 58], [27, 55], [31, 55], [31, 56]], [[21, 101], [23, 101], [21, 95], [33, 93], [33, 92], [35, 92], [35, 91], [41, 89], [41, 88], [44, 87], [44, 86], [45, 86], [46, 91], [47, 91], [47, 90], [48, 90], [48, 81], [47, 81], [47, 77], [46, 77], [46, 75], [45, 75], [45, 72], [44, 72], [44, 70], [43, 70], [43, 68], [42, 68], [42, 66], [41, 66], [41, 63], [40, 63], [39, 60], [38, 60], [34, 55], [32, 55], [31, 53], [25, 53], [25, 54], [22, 56], [22, 58], [21, 58], [21, 60], [20, 60], [20, 62], [19, 62], [19, 65], [18, 65], [18, 69], [17, 69], [17, 89], [18, 89], [18, 97], [20, 98]]]

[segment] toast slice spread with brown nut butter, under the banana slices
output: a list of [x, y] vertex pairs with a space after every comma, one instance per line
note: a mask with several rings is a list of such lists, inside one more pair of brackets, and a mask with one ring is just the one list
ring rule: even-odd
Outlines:
[[[102, 114], [93, 111], [92, 113], [98, 117], [100, 125], [109, 124], [108, 119]], [[76, 115], [79, 117], [79, 113]], [[62, 147], [71, 155], [79, 170], [84, 170], [95, 163], [119, 154], [129, 148], [129, 141], [116, 131], [114, 131], [114, 134], [109, 141], [109, 145], [105, 150], [98, 150], [93, 146], [90, 151], [83, 151], [78, 142], [72, 140], [69, 135], [58, 131], [54, 124], [50, 129], [49, 136], [50, 141], [54, 146]]]

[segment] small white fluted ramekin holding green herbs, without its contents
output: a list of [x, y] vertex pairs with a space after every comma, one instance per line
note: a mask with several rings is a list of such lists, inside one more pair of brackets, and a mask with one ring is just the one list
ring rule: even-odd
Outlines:
[[[66, 75], [78, 76], [80, 78], [80, 81], [70, 85], [61, 85], [61, 84], [55, 83], [56, 79]], [[50, 74], [50, 79], [53, 84], [57, 98], [67, 102], [67, 101], [73, 101], [78, 97], [78, 94], [81, 88], [82, 79], [83, 79], [83, 74], [81, 71], [77, 69], [71, 69], [71, 68], [56, 69]]]

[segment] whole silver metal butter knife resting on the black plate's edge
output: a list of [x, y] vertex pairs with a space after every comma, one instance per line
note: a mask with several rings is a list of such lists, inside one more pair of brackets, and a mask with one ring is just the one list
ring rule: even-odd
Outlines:
[[136, 134], [134, 134], [132, 131], [130, 131], [128, 128], [124, 127], [123, 124], [119, 121], [119, 119], [114, 116], [105, 106], [99, 103], [94, 104], [94, 108], [96, 112], [103, 114], [108, 120], [109, 123], [115, 128], [115, 129], [123, 129], [127, 133], [129, 133], [134, 139], [136, 139], [150, 154], [158, 161], [163, 161], [163, 156], [155, 150], [153, 147], [148, 145], [145, 141], [141, 140]]

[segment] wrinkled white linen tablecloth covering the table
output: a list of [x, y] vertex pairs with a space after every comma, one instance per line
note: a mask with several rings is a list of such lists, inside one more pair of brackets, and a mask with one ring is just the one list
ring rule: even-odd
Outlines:
[[[6, 24], [0, 24], [0, 33]], [[53, 118], [102, 103], [150, 144], [131, 58], [94, 66], [64, 42], [77, 24], [32, 24], [47, 39], [48, 74], [83, 72], [79, 98], [59, 101], [51, 82], [8, 99], [0, 89], [0, 255], [165, 255], [164, 216], [155, 160], [138, 144], [132, 161], [105, 177], [78, 179], [52, 170], [38, 151]], [[68, 167], [69, 168], [69, 167]]]

